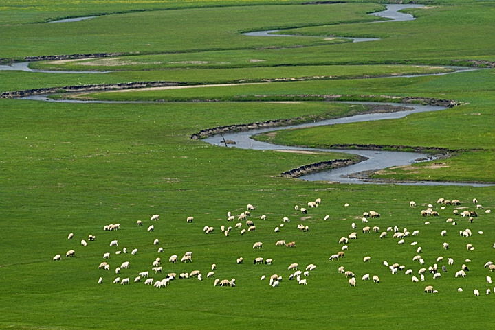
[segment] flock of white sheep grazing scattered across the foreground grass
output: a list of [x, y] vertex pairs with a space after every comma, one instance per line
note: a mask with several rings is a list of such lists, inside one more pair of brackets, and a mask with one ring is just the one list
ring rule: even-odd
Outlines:
[[[308, 213], [308, 209], [313, 209], [317, 208], [320, 206], [322, 200], [320, 198], [317, 198], [314, 201], [310, 201], [307, 203], [307, 208], [306, 207], [299, 207], [296, 205], [294, 207], [295, 211], [300, 212], [302, 215], [305, 215]], [[457, 225], [458, 223], [461, 223], [461, 220], [463, 218], [467, 218], [467, 220], [472, 223], [474, 221], [475, 217], [478, 217], [478, 213], [476, 211], [484, 210], [483, 206], [481, 204], [478, 204], [478, 201], [476, 198], [472, 200], [475, 206], [475, 210], [469, 211], [469, 210], [464, 210], [460, 211], [460, 209], [465, 208], [469, 209], [469, 207], [458, 207], [453, 209], [453, 211], [450, 211], [452, 213], [453, 217], [460, 217], [457, 220], [454, 220], [453, 218], [448, 218], [445, 222], [445, 224], [450, 224], [450, 225]], [[445, 200], [444, 198], [440, 198], [437, 200], [437, 207], [434, 207], [432, 204], [428, 204], [428, 209], [423, 209], [421, 210], [420, 214], [422, 217], [437, 217], [439, 216], [439, 212], [444, 212], [446, 210], [446, 207], [449, 205], [454, 205], [454, 206], [459, 206], [461, 205], [461, 202], [459, 200]], [[417, 207], [417, 204], [414, 201], [410, 201], [409, 206], [411, 208]], [[344, 207], [349, 207], [349, 204], [344, 204]], [[436, 211], [434, 209], [438, 209], [439, 211]], [[248, 229], [247, 231], [256, 231], [256, 226], [254, 225], [254, 221], [250, 219], [251, 217], [251, 212], [254, 211], [256, 207], [254, 207], [252, 204], [248, 204], [246, 207], [246, 211], [241, 212], [239, 215], [233, 215], [231, 211], [227, 213], [227, 218], [226, 218], [226, 224], [230, 224], [230, 222], [237, 220], [238, 222], [235, 224], [234, 228], [232, 226], [226, 227], [225, 225], [222, 225], [220, 227], [220, 231], [225, 235], [226, 237], [230, 235], [230, 233], [238, 231], [240, 235], [244, 235], [246, 233], [246, 229], [242, 228], [243, 226], [246, 226]], [[445, 211], [448, 212], [448, 211]], [[487, 209], [484, 210], [485, 214], [491, 213], [491, 210]], [[472, 262], [470, 259], [464, 259], [463, 261], [460, 261], [459, 263], [462, 263], [461, 266], [456, 267], [456, 261], [454, 261], [453, 258], [451, 257], [445, 257], [443, 255], [440, 255], [437, 257], [434, 261], [431, 261], [429, 265], [426, 264], [425, 259], [423, 258], [421, 253], [423, 252], [423, 249], [421, 246], [418, 246], [419, 242], [413, 239], [418, 239], [420, 238], [420, 230], [416, 229], [415, 231], [412, 231], [412, 233], [408, 230], [408, 228], [399, 228], [399, 226], [388, 226], [385, 231], [382, 231], [380, 226], [380, 213], [376, 211], [366, 211], [362, 213], [362, 217], [360, 217], [360, 220], [362, 222], [362, 228], [360, 228], [360, 232], [358, 234], [358, 231], [353, 231], [352, 233], [349, 233], [349, 235], [340, 237], [338, 239], [338, 244], [340, 244], [341, 248], [340, 251], [330, 255], [329, 257], [329, 262], [334, 262], [334, 261], [339, 261], [341, 258], [345, 257], [347, 252], [350, 249], [351, 242], [355, 241], [360, 237], [361, 235], [376, 235], [375, 237], [377, 239], [387, 239], [389, 236], [391, 236], [393, 239], [397, 239], [397, 244], [403, 245], [406, 243], [406, 239], [411, 238], [412, 241], [409, 242], [410, 246], [415, 246], [413, 250], [415, 250], [415, 255], [412, 257], [412, 261], [415, 261], [419, 264], [417, 270], [413, 270], [412, 268], [407, 268], [404, 264], [401, 263], [389, 263], [388, 261], [384, 260], [382, 261], [383, 266], [391, 272], [391, 274], [396, 275], [396, 274], [404, 274], [405, 276], [410, 276], [410, 281], [412, 283], [419, 283], [420, 281], [437, 281], [441, 279], [442, 276], [449, 276], [447, 266], [450, 268], [457, 268], [456, 272], [452, 272], [452, 276], [455, 278], [459, 277], [466, 277], [467, 274], [470, 272], [470, 267], [467, 266], [470, 262]], [[254, 217], [252, 217], [254, 219]], [[359, 218], [359, 217], [358, 217]], [[261, 215], [259, 217], [260, 220], [266, 220], [267, 215]], [[323, 217], [324, 220], [329, 219], [329, 215], [325, 215]], [[159, 221], [159, 215], [155, 214], [151, 216], [150, 218], [151, 222], [157, 222]], [[282, 223], [279, 224], [274, 228], [274, 233], [279, 233], [281, 231], [281, 228], [284, 226], [290, 226], [289, 222], [291, 220], [289, 217], [283, 217], [282, 218]], [[376, 222], [377, 225], [371, 227], [368, 225], [369, 222]], [[194, 222], [194, 217], [187, 217], [186, 218], [187, 223], [192, 223]], [[138, 220], [136, 222], [137, 226], [143, 226], [142, 220]], [[265, 224], [270, 224], [270, 222], [265, 222]], [[430, 224], [429, 221], [424, 222], [424, 225], [428, 226]], [[120, 230], [120, 224], [107, 224], [103, 227], [104, 231], [118, 231]], [[305, 224], [298, 224], [297, 227], [298, 230], [303, 231], [305, 233], [309, 232], [309, 226], [306, 226]], [[358, 229], [358, 224], [353, 222], [351, 224], [351, 228], [353, 230]], [[149, 233], [153, 233], [155, 231], [155, 225], [150, 224], [147, 228], [147, 231]], [[214, 233], [214, 227], [212, 226], [204, 226], [203, 227], [203, 232], [206, 234]], [[441, 237], [445, 237], [448, 235], [448, 230], [443, 229], [440, 233]], [[472, 231], [470, 228], [465, 228], [464, 230], [459, 231], [459, 235], [461, 237], [464, 237], [466, 239], [469, 239], [472, 237]], [[478, 235], [483, 235], [483, 231], [478, 231]], [[74, 239], [74, 233], [69, 233], [67, 236], [67, 239]], [[87, 236], [87, 240], [85, 238], [81, 239], [80, 245], [85, 247], [88, 245], [88, 241], [94, 241], [96, 240], [96, 236], [89, 234]], [[153, 245], [158, 245], [159, 244], [159, 239], [154, 239], [153, 240]], [[291, 241], [287, 243], [283, 239], [279, 239], [276, 241], [275, 246], [283, 246], [287, 248], [295, 248], [296, 247], [296, 242]], [[115, 255], [121, 255], [121, 254], [127, 254], [128, 250], [126, 248], [122, 248], [118, 250], [118, 240], [113, 239], [109, 242], [109, 247], [110, 248], [115, 248], [113, 253]], [[447, 241], [444, 241], [442, 244], [442, 248], [445, 250], [445, 253], [448, 252], [450, 245], [448, 244]], [[263, 242], [261, 241], [256, 241], [253, 246], [253, 249], [262, 249], [263, 248]], [[495, 244], [493, 246], [495, 248]], [[471, 243], [466, 244], [466, 250], [468, 252], [473, 252], [475, 250], [475, 247]], [[137, 248], [133, 248], [130, 251], [130, 255], [136, 255], [138, 252]], [[160, 247], [157, 250], [157, 253], [163, 253], [164, 248]], [[413, 253], [412, 253], [413, 254]], [[68, 250], [65, 253], [65, 257], [74, 257], [76, 255], [76, 251], [74, 249]], [[108, 260], [111, 258], [111, 252], [104, 252], [102, 255], [102, 259]], [[62, 255], [58, 254], [53, 257], [54, 261], [60, 261], [62, 259]], [[168, 258], [169, 263], [177, 263], [179, 261], [178, 255], [171, 255]], [[253, 260], [253, 264], [263, 264], [265, 265], [271, 265], [272, 262], [274, 261], [273, 258], [263, 258], [263, 257], [256, 257]], [[373, 258], [370, 255], [366, 255], [363, 257], [362, 261], [364, 263], [371, 263], [373, 261]], [[444, 261], [447, 261], [447, 264], [445, 265]], [[184, 255], [180, 258], [181, 263], [192, 263], [192, 251], [185, 252]], [[236, 259], [236, 263], [242, 264], [244, 263], [244, 258], [243, 257], [238, 257]], [[95, 266], [96, 267], [96, 266]], [[288, 281], [296, 280], [296, 283], [299, 285], [307, 285], [307, 278], [310, 274], [311, 271], [316, 270], [316, 265], [314, 263], [309, 263], [306, 267], [305, 270], [299, 270], [299, 264], [298, 263], [291, 263], [287, 267], [287, 270], [289, 270], [289, 274], [287, 276]], [[484, 268], [487, 269], [487, 272], [494, 272], [495, 271], [495, 263], [492, 261], [486, 261], [484, 264]], [[103, 270], [103, 271], [110, 271], [111, 266], [107, 261], [102, 261], [98, 269]], [[170, 285], [170, 281], [173, 281], [175, 279], [190, 279], [190, 278], [196, 278], [199, 281], [203, 281], [203, 274], [201, 270], [192, 270], [191, 272], [183, 272], [178, 274], [175, 272], [169, 272], [166, 274], [166, 276], [163, 276], [163, 266], [162, 266], [162, 258], [161, 257], [155, 257], [155, 259], [150, 260], [150, 268], [148, 270], [141, 270], [135, 272], [134, 275], [131, 276], [131, 261], [124, 261], [120, 264], [119, 267], [116, 267], [113, 272], [115, 272], [115, 276], [112, 280], [112, 283], [120, 283], [121, 285], [129, 285], [131, 283], [131, 277], [133, 277], [132, 282], [133, 283], [138, 283], [143, 281], [145, 285], [153, 285], [154, 287], [161, 288], [161, 287], [167, 287]], [[213, 263], [210, 266], [210, 269], [208, 269], [208, 273], [206, 274], [206, 278], [212, 279], [214, 277], [214, 271], [217, 269], [217, 264]], [[125, 271], [124, 271], [125, 270]], [[346, 270], [344, 266], [338, 266], [337, 269], [338, 273], [344, 274], [344, 276], [347, 278], [347, 282], [351, 287], [355, 287], [357, 285], [357, 280], [356, 280], [356, 275], [354, 274], [353, 271], [351, 270]], [[121, 272], [125, 272], [127, 276], [131, 277], [126, 277], [126, 276], [119, 276]], [[150, 277], [150, 272], [155, 276], [155, 277]], [[160, 274], [160, 275], [159, 275]], [[443, 274], [443, 275], [442, 275]], [[157, 277], [160, 276], [161, 278], [158, 279]], [[278, 274], [272, 274], [270, 276], [263, 275], [261, 276], [260, 280], [265, 281], [268, 280], [268, 284], [271, 287], [278, 287], [281, 285], [281, 282], [283, 281], [283, 276], [278, 275]], [[362, 281], [373, 281], [374, 283], [380, 283], [380, 277], [378, 274], [362, 274], [361, 276]], [[492, 284], [492, 278], [491, 276], [486, 276], [486, 282], [487, 284]], [[97, 283], [104, 283], [103, 276], [100, 276], [98, 279]], [[227, 286], [227, 287], [235, 287], [236, 286], [236, 279], [219, 279], [215, 278], [213, 281], [213, 285], [216, 286]], [[462, 287], [458, 287], [457, 289], [458, 292], [463, 292]], [[438, 291], [434, 289], [434, 286], [429, 284], [426, 285], [424, 288], [424, 292], [428, 293], [437, 293]], [[487, 288], [485, 290], [486, 294], [492, 293], [492, 290], [490, 288]], [[493, 290], [493, 293], [495, 293], [495, 289]], [[474, 295], [479, 296], [479, 290], [475, 289], [474, 290]]]

